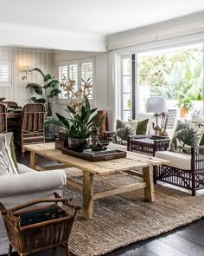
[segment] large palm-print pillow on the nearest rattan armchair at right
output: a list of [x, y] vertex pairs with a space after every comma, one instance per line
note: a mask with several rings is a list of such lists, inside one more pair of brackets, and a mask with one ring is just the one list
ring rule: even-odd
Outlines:
[[191, 147], [198, 146], [204, 133], [203, 126], [194, 122], [181, 122], [175, 128], [169, 151], [191, 153]]

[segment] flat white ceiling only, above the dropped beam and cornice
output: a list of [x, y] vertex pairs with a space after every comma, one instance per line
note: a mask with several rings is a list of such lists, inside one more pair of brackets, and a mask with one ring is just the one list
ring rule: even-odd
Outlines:
[[0, 0], [0, 3], [3, 23], [100, 35], [204, 10], [203, 0]]

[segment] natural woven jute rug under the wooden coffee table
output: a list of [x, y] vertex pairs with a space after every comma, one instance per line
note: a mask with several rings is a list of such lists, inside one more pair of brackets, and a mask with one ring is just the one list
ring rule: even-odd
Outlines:
[[[133, 183], [127, 174], [118, 174], [94, 180], [95, 191]], [[81, 181], [78, 175], [74, 180]], [[156, 202], [145, 202], [143, 189], [114, 195], [94, 201], [92, 220], [85, 220], [80, 210], [73, 223], [69, 239], [71, 253], [93, 256], [110, 253], [119, 247], [167, 233], [204, 216], [204, 196], [155, 186]], [[73, 203], [82, 206], [79, 190], [65, 187], [64, 194], [73, 197]]]

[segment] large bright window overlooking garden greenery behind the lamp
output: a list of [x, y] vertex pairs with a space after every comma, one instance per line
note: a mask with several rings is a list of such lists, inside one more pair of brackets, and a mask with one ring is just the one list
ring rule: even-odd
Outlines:
[[[201, 109], [203, 97], [203, 46], [192, 44], [137, 54], [137, 108], [145, 111], [150, 96], [164, 96], [168, 108], [178, 108], [186, 95]], [[199, 101], [200, 102], [196, 102]]]

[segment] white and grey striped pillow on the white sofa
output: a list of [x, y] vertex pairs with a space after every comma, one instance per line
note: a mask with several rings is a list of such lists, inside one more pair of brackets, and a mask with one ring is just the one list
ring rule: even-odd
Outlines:
[[18, 174], [10, 154], [12, 133], [0, 134], [0, 175]]

